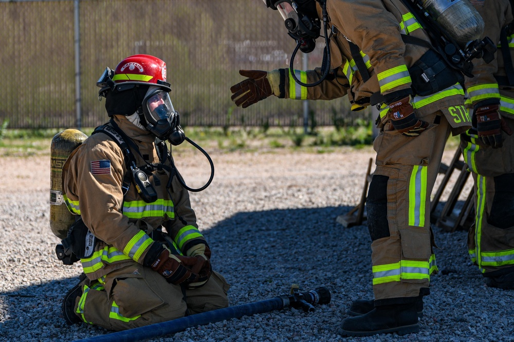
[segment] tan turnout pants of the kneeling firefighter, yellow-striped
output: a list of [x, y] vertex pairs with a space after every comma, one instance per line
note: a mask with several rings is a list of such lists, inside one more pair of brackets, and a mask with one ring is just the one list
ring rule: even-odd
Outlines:
[[226, 308], [228, 288], [225, 278], [212, 272], [203, 287], [182, 292], [159, 273], [136, 264], [100, 281], [86, 278], [75, 310], [85, 323], [119, 331]]

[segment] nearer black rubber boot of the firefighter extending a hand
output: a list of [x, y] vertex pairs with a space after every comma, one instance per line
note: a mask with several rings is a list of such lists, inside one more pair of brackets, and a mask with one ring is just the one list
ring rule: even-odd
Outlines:
[[416, 305], [398, 304], [375, 307], [370, 312], [343, 320], [341, 336], [372, 336], [397, 333], [405, 335], [419, 331]]

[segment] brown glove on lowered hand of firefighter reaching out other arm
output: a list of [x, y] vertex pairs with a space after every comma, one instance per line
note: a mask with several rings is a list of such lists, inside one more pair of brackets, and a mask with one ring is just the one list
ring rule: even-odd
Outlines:
[[393, 127], [403, 135], [417, 136], [428, 128], [427, 122], [416, 117], [410, 96], [391, 102], [389, 111]]

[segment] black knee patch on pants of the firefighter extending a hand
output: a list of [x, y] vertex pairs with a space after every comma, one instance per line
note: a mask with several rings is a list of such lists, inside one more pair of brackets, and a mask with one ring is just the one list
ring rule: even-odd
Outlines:
[[368, 229], [373, 241], [391, 236], [387, 220], [387, 182], [388, 176], [373, 175], [366, 198]]

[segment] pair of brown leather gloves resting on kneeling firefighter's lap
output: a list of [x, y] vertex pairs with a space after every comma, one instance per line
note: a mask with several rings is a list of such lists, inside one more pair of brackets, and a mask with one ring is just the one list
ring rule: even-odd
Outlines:
[[204, 262], [196, 257], [174, 255], [161, 243], [153, 242], [144, 257], [143, 266], [158, 272], [168, 283], [178, 285], [198, 281], [197, 272], [203, 267]]

